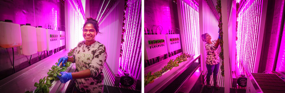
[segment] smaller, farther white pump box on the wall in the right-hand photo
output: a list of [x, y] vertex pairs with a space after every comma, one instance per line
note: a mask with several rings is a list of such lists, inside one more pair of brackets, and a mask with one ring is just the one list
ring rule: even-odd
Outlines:
[[166, 37], [166, 45], [168, 52], [181, 49], [180, 35], [179, 34], [168, 34]]

